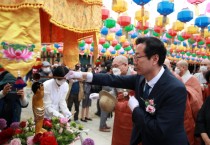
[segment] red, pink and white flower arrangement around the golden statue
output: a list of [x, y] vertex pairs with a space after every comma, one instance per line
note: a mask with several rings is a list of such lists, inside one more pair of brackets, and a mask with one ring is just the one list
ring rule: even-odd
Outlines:
[[[6, 128], [6, 121], [0, 119], [0, 144], [9, 145], [68, 145], [80, 139], [83, 126], [68, 122], [67, 118], [44, 119], [44, 133], [35, 135], [35, 123], [30, 118], [27, 121], [14, 122]], [[82, 139], [82, 138], [81, 138]], [[94, 145], [92, 139], [85, 139], [82, 145]]]

